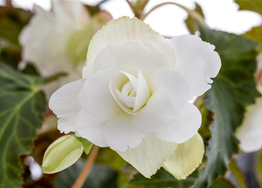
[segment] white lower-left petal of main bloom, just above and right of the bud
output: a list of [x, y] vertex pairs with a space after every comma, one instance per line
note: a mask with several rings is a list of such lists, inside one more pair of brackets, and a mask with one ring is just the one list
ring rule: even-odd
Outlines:
[[82, 138], [99, 147], [108, 147], [103, 133], [106, 121], [92, 117], [82, 109], [77, 116], [76, 123], [77, 133]]

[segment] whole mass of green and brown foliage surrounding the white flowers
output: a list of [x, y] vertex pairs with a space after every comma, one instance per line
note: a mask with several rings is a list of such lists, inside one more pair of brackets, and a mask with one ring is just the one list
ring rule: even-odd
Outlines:
[[[262, 1], [235, 2], [240, 5], [240, 10], [262, 15]], [[136, 16], [143, 17], [145, 6], [146, 3], [141, 3], [131, 8]], [[99, 6], [86, 8], [91, 15], [100, 11]], [[198, 4], [194, 11], [204, 18]], [[10, 3], [0, 7], [0, 187], [71, 187], [87, 155], [83, 154], [81, 160], [64, 171], [44, 174], [38, 180], [32, 179], [29, 166], [24, 163], [26, 157], [31, 155], [41, 165], [46, 148], [63, 135], [56, 129], [56, 121], [41, 128], [44, 119], [52, 116], [52, 112], [40, 88], [61, 75], [43, 78], [30, 63], [23, 70], [18, 69], [21, 61], [18, 35], [32, 15], [31, 11], [13, 8]], [[116, 152], [102, 148], [83, 188], [247, 187], [246, 177], [232, 159], [234, 154], [239, 153], [234, 131], [241, 124], [245, 107], [259, 97], [253, 75], [262, 43], [262, 25], [240, 36], [211, 30], [199, 24], [199, 20], [192, 15], [185, 20], [185, 24], [190, 33], [199, 31], [203, 41], [214, 44], [222, 61], [222, 68], [213, 79], [212, 88], [195, 102], [202, 113], [199, 132], [206, 147], [202, 165], [182, 181], [163, 168], [151, 179], [146, 179]], [[258, 155], [257, 172], [262, 183], [261, 153]], [[235, 175], [237, 183], [233, 184], [225, 176], [229, 170]]]

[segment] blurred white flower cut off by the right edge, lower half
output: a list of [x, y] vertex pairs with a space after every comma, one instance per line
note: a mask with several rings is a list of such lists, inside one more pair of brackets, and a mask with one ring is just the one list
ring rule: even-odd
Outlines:
[[246, 153], [255, 152], [262, 148], [262, 98], [246, 109], [244, 120], [236, 131], [239, 147]]

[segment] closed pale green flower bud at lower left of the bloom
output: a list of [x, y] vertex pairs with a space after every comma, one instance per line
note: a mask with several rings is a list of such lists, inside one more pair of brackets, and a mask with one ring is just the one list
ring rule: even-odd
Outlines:
[[42, 172], [53, 174], [70, 167], [81, 157], [83, 150], [83, 143], [75, 135], [58, 138], [45, 151]]

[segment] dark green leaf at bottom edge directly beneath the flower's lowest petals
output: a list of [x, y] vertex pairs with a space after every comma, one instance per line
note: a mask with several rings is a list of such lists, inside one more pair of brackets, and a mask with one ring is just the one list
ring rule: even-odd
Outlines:
[[188, 188], [194, 184], [196, 179], [197, 171], [193, 172], [185, 180], [178, 180], [165, 171], [165, 169], [160, 168], [153, 176], [151, 176], [151, 179], [145, 178], [142, 174], [137, 174], [129, 184], [143, 188]]

